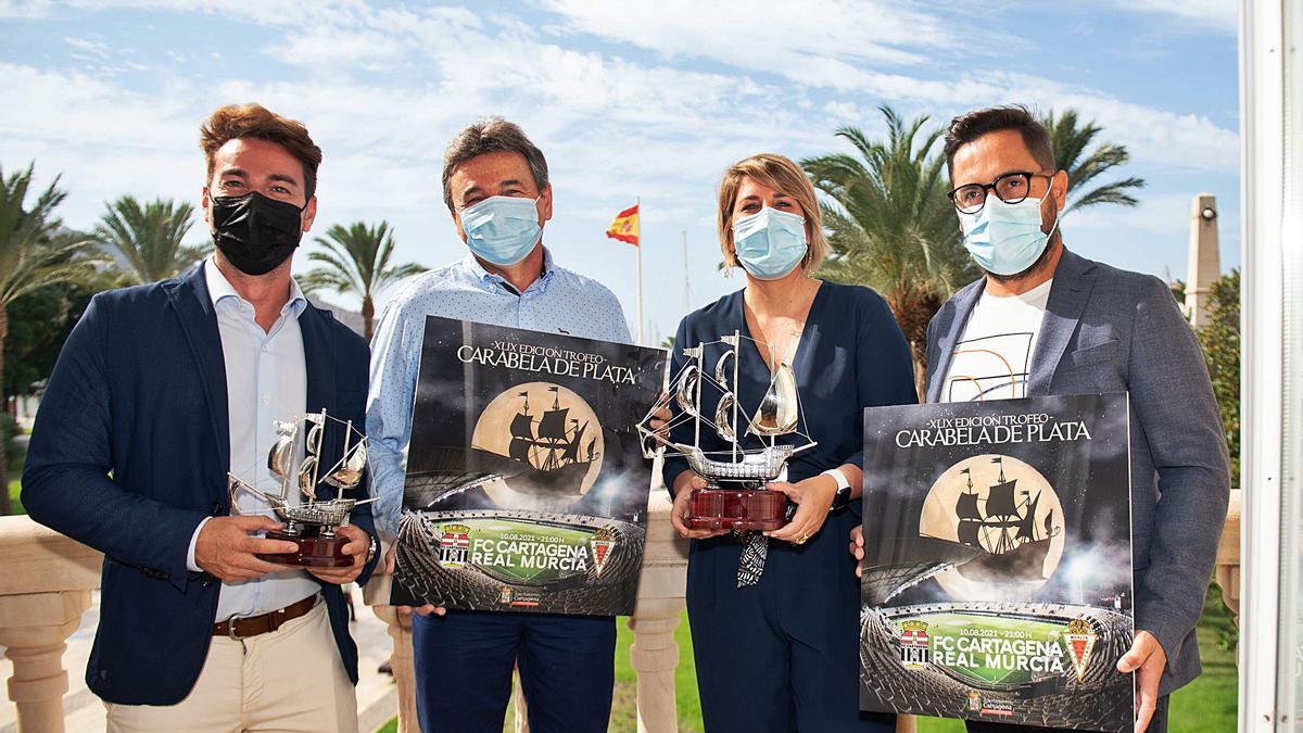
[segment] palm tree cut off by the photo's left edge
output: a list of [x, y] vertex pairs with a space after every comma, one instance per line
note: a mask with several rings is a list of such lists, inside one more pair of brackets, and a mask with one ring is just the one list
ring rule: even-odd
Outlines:
[[[4, 374], [4, 340], [9, 334], [9, 304], [38, 288], [86, 278], [94, 270], [93, 261], [78, 258], [87, 241], [63, 232], [63, 223], [55, 217], [55, 209], [68, 196], [59, 189], [59, 177], [27, 207], [31, 176], [30, 164], [26, 171], [9, 176], [0, 168], [0, 377]], [[8, 408], [7, 395], [0, 399], [0, 408]], [[0, 515], [12, 510], [5, 447], [0, 441]]]

